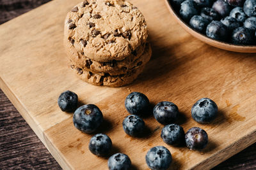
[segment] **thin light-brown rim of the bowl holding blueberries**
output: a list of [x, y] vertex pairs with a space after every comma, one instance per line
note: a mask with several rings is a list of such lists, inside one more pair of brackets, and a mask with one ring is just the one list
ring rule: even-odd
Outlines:
[[[202, 34], [201, 32], [196, 31], [195, 29], [192, 29], [186, 22], [184, 22], [184, 20], [182, 20], [182, 18], [179, 17], [178, 13], [173, 9], [172, 4], [170, 3], [170, 0], [165, 0], [166, 4], [170, 10], [170, 12], [172, 13], [172, 15], [177, 18], [179, 24], [188, 32], [187, 29], [189, 29], [191, 32], [193, 32], [193, 36], [199, 36], [199, 38], [201, 41], [210, 41], [211, 45], [215, 44], [215, 43], [219, 43], [220, 45], [225, 45], [228, 46], [230, 48], [246, 48], [246, 49], [251, 49], [251, 50], [256, 50], [256, 45], [234, 45], [232, 43], [227, 43], [225, 41], [220, 41], [220, 40], [216, 40], [213, 38], [210, 38], [208, 36], [206, 36], [205, 34]], [[189, 32], [189, 34], [191, 34], [191, 32]], [[205, 42], [206, 43], [206, 42]], [[220, 46], [218, 45], [218, 46]]]

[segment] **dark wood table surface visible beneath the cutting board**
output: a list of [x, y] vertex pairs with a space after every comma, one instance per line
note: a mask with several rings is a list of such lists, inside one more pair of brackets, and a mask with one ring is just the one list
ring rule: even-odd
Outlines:
[[[49, 0], [0, 0], [0, 24]], [[256, 169], [256, 143], [214, 169]], [[0, 90], [0, 169], [61, 169]]]

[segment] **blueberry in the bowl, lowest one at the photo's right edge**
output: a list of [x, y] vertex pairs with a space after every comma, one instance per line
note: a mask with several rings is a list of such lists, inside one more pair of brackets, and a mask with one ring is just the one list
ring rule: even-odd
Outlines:
[[238, 27], [232, 32], [231, 41], [236, 45], [253, 45], [255, 32], [244, 27]]

